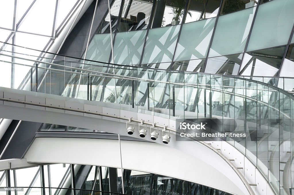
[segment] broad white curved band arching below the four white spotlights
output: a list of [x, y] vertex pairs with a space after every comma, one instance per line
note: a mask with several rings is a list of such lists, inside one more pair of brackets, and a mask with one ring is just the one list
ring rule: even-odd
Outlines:
[[[195, 147], [194, 150], [196, 151], [203, 148], [201, 144], [197, 144]], [[99, 150], [99, 148], [103, 149]], [[151, 142], [122, 140], [121, 152], [124, 169], [184, 179], [206, 186], [213, 186], [232, 194], [248, 194], [242, 188], [244, 186], [242, 182], [232, 180], [225, 172], [222, 172], [223, 170], [218, 170], [203, 162], [200, 158], [178, 149]], [[118, 141], [107, 139], [37, 137], [26, 153], [25, 158], [28, 162], [120, 167]], [[216, 153], [211, 158], [210, 160], [212, 161], [219, 160]], [[223, 167], [223, 169], [226, 169], [226, 167]]]

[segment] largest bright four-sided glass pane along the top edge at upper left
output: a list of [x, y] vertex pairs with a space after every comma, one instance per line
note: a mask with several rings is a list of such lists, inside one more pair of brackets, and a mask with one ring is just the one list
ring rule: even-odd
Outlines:
[[56, 0], [36, 1], [18, 30], [41, 35], [52, 35]]

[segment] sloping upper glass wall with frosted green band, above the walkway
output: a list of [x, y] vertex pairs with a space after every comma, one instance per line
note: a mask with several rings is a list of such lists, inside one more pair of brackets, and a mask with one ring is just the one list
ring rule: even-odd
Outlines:
[[[108, 13], [89, 44], [86, 58], [90, 60], [143, 67], [169, 63], [164, 69], [189, 61], [194, 70], [199, 60], [191, 60], [204, 59], [196, 71], [254, 76], [254, 80], [260, 80], [255, 76], [290, 76], [280, 68], [287, 61], [284, 46], [290, 36], [290, 43], [294, 40], [293, 1], [223, 0], [220, 8], [220, 2], [213, 0], [115, 0], [111, 6], [114, 62]], [[230, 57], [234, 59], [225, 63]]]

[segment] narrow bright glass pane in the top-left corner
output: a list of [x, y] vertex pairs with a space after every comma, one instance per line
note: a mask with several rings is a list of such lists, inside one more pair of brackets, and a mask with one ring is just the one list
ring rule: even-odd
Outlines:
[[13, 28], [14, 1], [0, 1], [0, 27]]

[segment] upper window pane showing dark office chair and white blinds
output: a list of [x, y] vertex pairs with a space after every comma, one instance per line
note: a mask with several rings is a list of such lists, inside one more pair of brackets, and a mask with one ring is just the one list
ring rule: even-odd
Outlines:
[[149, 23], [153, 1], [126, 0], [118, 26], [118, 32], [146, 29]]

